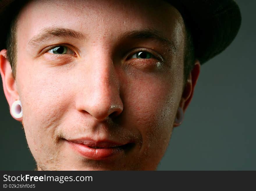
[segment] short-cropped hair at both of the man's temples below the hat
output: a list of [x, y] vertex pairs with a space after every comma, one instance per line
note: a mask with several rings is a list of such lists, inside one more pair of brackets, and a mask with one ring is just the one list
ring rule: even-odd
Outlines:
[[[7, 48], [7, 59], [10, 62], [13, 77], [16, 76], [16, 64], [17, 64], [17, 17], [19, 15], [19, 10], [16, 11], [14, 17], [10, 24], [10, 30], [7, 35], [6, 40], [6, 48]], [[195, 49], [193, 44], [193, 38], [191, 34], [191, 30], [189, 25], [186, 23], [185, 19], [183, 18], [183, 22], [185, 25], [185, 45], [184, 45], [184, 85], [188, 79], [189, 73], [194, 67], [195, 63]]]

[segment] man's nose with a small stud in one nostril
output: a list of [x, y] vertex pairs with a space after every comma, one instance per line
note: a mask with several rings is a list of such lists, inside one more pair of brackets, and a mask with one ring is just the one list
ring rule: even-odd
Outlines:
[[120, 82], [111, 58], [92, 58], [85, 61], [83, 68], [76, 109], [99, 121], [120, 115], [123, 110]]

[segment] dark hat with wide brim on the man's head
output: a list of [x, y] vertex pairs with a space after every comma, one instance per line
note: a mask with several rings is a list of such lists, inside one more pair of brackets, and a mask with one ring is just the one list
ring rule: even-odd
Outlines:
[[[241, 13], [234, 0], [166, 1], [179, 10], [189, 27], [195, 47], [195, 57], [201, 64], [225, 50], [239, 31]], [[5, 37], [0, 39], [0, 50], [6, 48], [12, 15], [24, 2], [0, 0], [0, 35]]]

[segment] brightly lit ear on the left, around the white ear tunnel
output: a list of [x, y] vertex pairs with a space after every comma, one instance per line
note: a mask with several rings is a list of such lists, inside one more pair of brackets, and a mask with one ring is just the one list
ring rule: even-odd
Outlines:
[[[0, 73], [3, 81], [3, 92], [10, 107], [10, 114], [12, 115], [11, 107], [14, 101], [19, 100], [19, 94], [17, 92], [10, 62], [7, 59], [6, 49], [0, 51]], [[15, 118], [14, 116], [13, 118], [20, 122], [22, 121], [22, 118]]]

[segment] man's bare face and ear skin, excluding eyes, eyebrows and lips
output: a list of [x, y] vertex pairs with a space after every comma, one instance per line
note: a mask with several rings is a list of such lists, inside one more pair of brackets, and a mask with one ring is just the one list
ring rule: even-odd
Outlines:
[[[72, 1], [73, 2], [73, 1]], [[18, 17], [15, 78], [0, 52], [4, 93], [22, 103], [26, 139], [39, 170], [155, 170], [171, 137], [178, 107], [191, 101], [200, 63], [183, 84], [185, 27], [166, 2], [32, 1]], [[30, 27], [33, 26], [33, 27]], [[33, 42], [43, 29], [68, 28], [84, 38]], [[160, 31], [176, 50], [128, 31]], [[49, 51], [65, 45], [66, 54]], [[56, 47], [56, 46], [55, 46]], [[152, 53], [137, 58], [137, 52]], [[124, 153], [91, 160], [67, 140], [130, 143]]]

